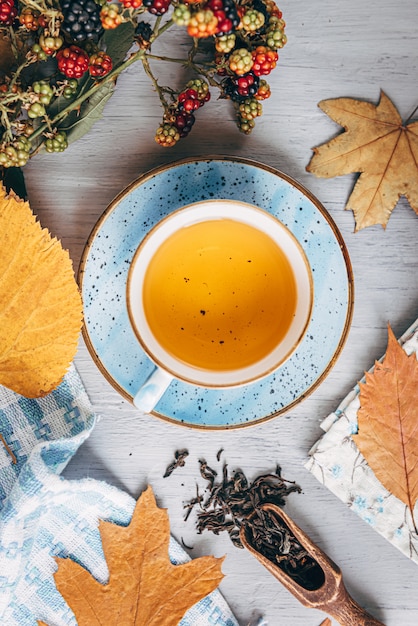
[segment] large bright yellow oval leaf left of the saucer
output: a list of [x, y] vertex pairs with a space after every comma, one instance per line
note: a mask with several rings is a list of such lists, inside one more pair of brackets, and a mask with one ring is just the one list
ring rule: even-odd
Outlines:
[[77, 350], [82, 305], [71, 259], [2, 185], [0, 248], [0, 384], [40, 397], [58, 386]]

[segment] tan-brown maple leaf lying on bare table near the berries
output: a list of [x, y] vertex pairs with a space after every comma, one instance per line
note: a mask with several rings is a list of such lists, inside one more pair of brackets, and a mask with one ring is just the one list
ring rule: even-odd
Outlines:
[[345, 207], [354, 212], [356, 231], [386, 228], [402, 195], [418, 213], [418, 122], [404, 125], [383, 92], [377, 106], [352, 98], [318, 106], [345, 132], [314, 148], [306, 169], [322, 178], [361, 173]]

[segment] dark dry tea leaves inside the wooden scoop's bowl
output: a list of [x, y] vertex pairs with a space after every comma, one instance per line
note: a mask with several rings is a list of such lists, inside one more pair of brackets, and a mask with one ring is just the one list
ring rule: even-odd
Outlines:
[[313, 591], [324, 584], [323, 569], [273, 511], [256, 509], [243, 528], [248, 543], [298, 585]]

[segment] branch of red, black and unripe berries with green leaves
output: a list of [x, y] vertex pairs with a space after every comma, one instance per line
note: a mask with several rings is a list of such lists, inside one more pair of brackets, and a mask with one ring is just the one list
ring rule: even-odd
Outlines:
[[[184, 59], [151, 52], [171, 28], [190, 37]], [[41, 149], [65, 150], [137, 61], [163, 109], [160, 145], [188, 135], [212, 88], [248, 134], [270, 96], [263, 77], [277, 64], [284, 30], [274, 0], [0, 0], [0, 168], [23, 166]], [[150, 61], [194, 76], [181, 89], [162, 87]]]

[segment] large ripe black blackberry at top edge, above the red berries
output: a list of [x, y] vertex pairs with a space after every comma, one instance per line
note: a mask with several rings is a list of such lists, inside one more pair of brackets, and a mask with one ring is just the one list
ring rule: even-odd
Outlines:
[[100, 6], [94, 0], [62, 0], [61, 30], [73, 43], [99, 41], [103, 34]]

